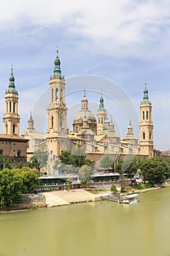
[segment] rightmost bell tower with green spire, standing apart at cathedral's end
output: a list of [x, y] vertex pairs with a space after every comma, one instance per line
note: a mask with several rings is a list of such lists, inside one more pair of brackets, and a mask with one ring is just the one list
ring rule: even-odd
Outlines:
[[147, 83], [145, 83], [144, 96], [140, 105], [140, 153], [153, 157], [153, 124], [152, 103], [148, 97]]

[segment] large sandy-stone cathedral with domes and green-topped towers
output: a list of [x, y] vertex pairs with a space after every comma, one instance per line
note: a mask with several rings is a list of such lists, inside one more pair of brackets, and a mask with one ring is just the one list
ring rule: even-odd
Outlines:
[[[104, 97], [101, 93], [98, 99], [96, 116], [88, 106], [87, 92], [83, 91], [81, 109], [75, 113], [72, 121], [72, 131], [67, 128], [67, 107], [65, 102], [66, 81], [61, 72], [61, 60], [57, 55], [54, 61], [53, 75], [50, 77], [49, 105], [47, 106], [47, 133], [36, 132], [32, 113], [28, 119], [28, 127], [19, 136], [20, 116], [18, 114], [18, 91], [15, 89], [13, 72], [9, 78], [9, 87], [5, 94], [5, 113], [3, 117], [3, 135], [14, 136], [27, 145], [27, 159], [39, 147], [47, 148], [49, 161], [47, 173], [53, 173], [55, 160], [62, 151], [82, 147], [87, 158], [96, 161], [96, 169], [104, 155], [109, 154], [114, 161], [127, 155], [141, 155], [153, 157], [153, 124], [152, 103], [148, 97], [145, 84], [144, 95], [140, 104], [140, 139], [134, 135], [132, 122], [129, 120], [127, 134], [121, 139], [115, 131], [115, 126], [108, 118], [104, 107]], [[1, 139], [1, 138], [0, 138]], [[2, 150], [2, 148], [0, 148]], [[19, 151], [18, 151], [19, 152]]]

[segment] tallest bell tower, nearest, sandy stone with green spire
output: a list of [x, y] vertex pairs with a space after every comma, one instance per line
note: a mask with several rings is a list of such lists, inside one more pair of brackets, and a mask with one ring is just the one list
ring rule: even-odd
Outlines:
[[[66, 82], [61, 75], [61, 61], [57, 56], [54, 61], [53, 76], [50, 77], [50, 102], [47, 108], [47, 145], [51, 154], [58, 156], [63, 150], [63, 140], [66, 137], [67, 108], [65, 102]], [[59, 140], [62, 140], [62, 146]]]

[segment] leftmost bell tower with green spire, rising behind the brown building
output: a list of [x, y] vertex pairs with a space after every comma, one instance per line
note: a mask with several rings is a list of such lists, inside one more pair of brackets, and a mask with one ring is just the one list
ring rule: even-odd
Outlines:
[[3, 134], [18, 135], [20, 132], [20, 116], [18, 115], [18, 91], [15, 89], [13, 67], [9, 77], [9, 86], [5, 93], [5, 113], [3, 117]]

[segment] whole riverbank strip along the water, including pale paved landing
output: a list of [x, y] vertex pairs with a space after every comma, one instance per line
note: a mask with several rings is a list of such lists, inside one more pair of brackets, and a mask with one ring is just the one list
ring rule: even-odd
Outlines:
[[[165, 184], [163, 187], [167, 187], [169, 184]], [[131, 189], [129, 192], [120, 193], [121, 196], [131, 194], [132, 191], [134, 193], [145, 193], [150, 192], [152, 190], [161, 189], [163, 187], [150, 187], [147, 189]], [[73, 203], [85, 203], [85, 202], [96, 202], [99, 200], [104, 200], [104, 195], [110, 195], [111, 192], [106, 190], [99, 192], [94, 195], [90, 191], [85, 189], [70, 189], [68, 190], [59, 190], [52, 192], [43, 192], [39, 194], [40, 196], [34, 195], [34, 200], [30, 202], [26, 201], [20, 203], [18, 205], [12, 206], [10, 208], [5, 209], [4, 211], [0, 211], [0, 214], [7, 213], [15, 213], [22, 211], [31, 211], [36, 208], [42, 207], [57, 207], [57, 206], [66, 206]], [[41, 197], [41, 200], [39, 199]]]

